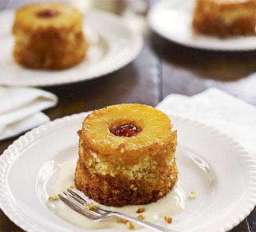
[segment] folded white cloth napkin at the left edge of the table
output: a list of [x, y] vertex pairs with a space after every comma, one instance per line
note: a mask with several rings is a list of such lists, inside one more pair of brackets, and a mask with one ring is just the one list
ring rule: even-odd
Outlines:
[[55, 106], [58, 98], [34, 88], [0, 86], [0, 140], [19, 135], [49, 121], [41, 110]]

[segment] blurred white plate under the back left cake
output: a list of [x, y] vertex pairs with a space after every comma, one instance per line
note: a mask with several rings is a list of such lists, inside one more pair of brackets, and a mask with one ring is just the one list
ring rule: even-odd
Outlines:
[[1, 12], [0, 21], [0, 85], [49, 86], [86, 81], [122, 68], [140, 52], [143, 39], [119, 16], [91, 10], [84, 19], [84, 32], [94, 42], [80, 64], [62, 71], [24, 68], [12, 57], [14, 38], [11, 34], [13, 11]]

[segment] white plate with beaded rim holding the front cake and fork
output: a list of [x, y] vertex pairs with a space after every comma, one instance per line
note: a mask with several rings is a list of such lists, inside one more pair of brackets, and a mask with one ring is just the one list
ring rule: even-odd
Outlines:
[[[86, 113], [56, 119], [21, 136], [0, 157], [0, 206], [26, 231], [81, 229], [52, 213], [45, 202], [55, 193], [56, 167], [77, 157], [76, 132]], [[233, 139], [209, 126], [169, 115], [178, 133], [179, 180], [186, 209], [164, 225], [178, 231], [226, 231], [243, 220], [256, 202], [256, 166]], [[104, 229], [96, 231], [126, 231]], [[147, 232], [148, 229], [138, 231]]]

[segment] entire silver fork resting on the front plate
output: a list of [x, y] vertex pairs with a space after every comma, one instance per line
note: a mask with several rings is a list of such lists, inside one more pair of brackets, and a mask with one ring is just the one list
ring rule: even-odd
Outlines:
[[144, 220], [140, 220], [138, 218], [131, 217], [129, 215], [126, 215], [125, 213], [115, 212], [115, 211], [107, 211], [105, 209], [84, 209], [83, 205], [87, 204], [88, 202], [80, 197], [80, 195], [74, 193], [72, 190], [67, 189], [66, 191], [63, 191], [63, 193], [66, 195], [65, 197], [62, 197], [62, 195], [58, 194], [59, 200], [64, 202], [67, 206], [72, 208], [74, 211], [81, 213], [81, 215], [86, 216], [88, 219], [94, 220], [94, 221], [101, 221], [106, 218], [116, 216], [118, 218], [129, 220], [130, 222], [138, 223], [141, 226], [147, 227], [149, 229], [155, 230], [155, 231], [161, 231], [161, 232], [177, 232], [175, 230], [169, 230], [161, 226], [157, 226], [155, 224], [145, 222]]

